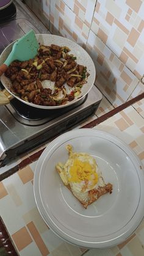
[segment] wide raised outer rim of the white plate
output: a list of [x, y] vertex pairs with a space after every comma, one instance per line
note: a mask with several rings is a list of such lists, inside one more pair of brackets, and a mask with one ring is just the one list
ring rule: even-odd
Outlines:
[[[134, 157], [135, 159], [135, 163], [136, 163], [136, 166], [135, 166], [135, 163], [132, 161], [132, 163], [134, 164], [135, 166], [135, 169], [140, 169], [140, 166], [142, 166], [142, 163], [140, 161], [140, 159], [138, 158], [138, 156], [135, 154], [135, 152], [127, 145], [125, 144], [125, 142], [123, 142], [121, 139], [119, 139], [117, 136], [113, 136], [112, 134], [110, 133], [107, 133], [105, 131], [101, 131], [101, 130], [95, 130], [95, 129], [91, 129], [90, 128], [81, 128], [81, 129], [76, 129], [76, 130], [72, 130], [72, 131], [68, 131], [66, 133], [63, 133], [62, 135], [60, 135], [59, 137], [57, 137], [56, 139], [54, 139], [54, 141], [50, 142], [49, 145], [45, 148], [45, 150], [43, 151], [43, 153], [41, 154], [40, 158], [43, 160], [44, 158], [44, 161], [45, 161], [45, 157], [46, 157], [46, 154], [48, 153], [49, 151], [49, 148], [51, 149], [52, 147], [54, 148], [54, 146], [56, 147], [58, 142], [60, 141], [63, 141], [63, 142], [66, 142], [67, 139], [70, 139], [70, 136], [73, 136], [76, 135], [77, 133], [78, 134], [83, 134], [83, 136], [88, 136], [89, 134], [88, 133], [92, 133], [93, 136], [96, 136], [96, 135], [100, 135], [100, 136], [108, 136], [109, 139], [114, 139], [115, 141], [117, 141], [118, 143], [120, 143], [120, 145], [123, 145], [124, 148], [126, 148], [126, 150], [128, 150], [128, 153], [130, 153], [131, 157]], [[69, 136], [69, 137], [68, 137]], [[73, 138], [72, 137], [72, 138]], [[107, 139], [105, 137], [105, 139]], [[66, 141], [65, 141], [66, 140]], [[121, 148], [123, 149], [123, 148]], [[52, 150], [52, 149], [51, 149]], [[50, 150], [50, 151], [51, 151]], [[126, 150], [124, 150], [124, 152], [126, 153]], [[127, 155], [128, 155], [127, 153]], [[130, 159], [131, 159], [130, 157]], [[35, 202], [36, 202], [36, 205], [37, 205], [37, 208], [38, 208], [38, 211], [40, 212], [41, 214], [41, 217], [43, 218], [43, 220], [46, 222], [46, 224], [49, 225], [48, 221], [51, 222], [51, 220], [48, 220], [48, 216], [45, 216], [46, 213], [43, 213], [41, 212], [41, 206], [43, 207], [43, 203], [42, 202], [38, 202], [38, 200], [40, 201], [41, 199], [39, 198], [37, 200], [37, 197], [38, 197], [38, 194], [40, 196], [40, 191], [39, 190], [39, 177], [40, 177], [40, 172], [41, 172], [41, 168], [39, 167], [39, 164], [40, 164], [40, 161], [41, 159], [38, 159], [38, 163], [37, 163], [37, 166], [35, 168], [35, 174], [34, 174], [34, 197], [35, 197]], [[40, 164], [40, 166], [42, 166], [43, 164]], [[139, 168], [138, 168], [139, 166]], [[139, 176], [139, 179], [140, 177], [143, 179], [144, 181], [144, 174], [143, 174], [143, 167], [142, 169], [140, 169], [141, 172], [138, 172], [138, 176]], [[38, 175], [39, 174], [39, 175]], [[39, 176], [39, 177], [38, 177]], [[38, 180], [37, 180], [38, 179]], [[38, 186], [37, 186], [37, 182], [38, 182]], [[140, 185], [142, 185], [142, 181], [140, 180]], [[142, 187], [142, 186], [141, 186]], [[142, 193], [143, 192], [143, 193]], [[140, 204], [138, 205], [137, 209], [140, 211], [140, 209], [142, 208], [144, 210], [144, 203], [142, 204], [143, 200], [142, 200], [142, 196], [144, 195], [144, 189], [141, 188], [141, 194], [140, 194]], [[41, 204], [41, 206], [40, 206]], [[135, 218], [135, 215], [139, 213], [139, 211], [137, 212], [137, 210], [135, 211], [135, 214], [134, 216], [132, 217], [132, 221], [133, 219]], [[139, 213], [140, 214], [140, 213]], [[122, 243], [124, 240], [126, 240], [126, 238], [129, 237], [129, 235], [132, 235], [132, 233], [134, 233], [135, 229], [137, 229], [137, 227], [139, 226], [140, 222], [142, 221], [143, 219], [143, 216], [144, 214], [142, 214], [142, 210], [141, 210], [141, 214], [140, 214], [140, 218], [139, 220], [136, 218], [134, 224], [132, 224], [132, 227], [129, 228], [129, 230], [125, 231], [123, 234], [121, 234], [120, 236], [116, 237], [116, 238], [113, 238], [111, 240], [108, 240], [108, 241], [102, 241], [102, 242], [96, 242], [96, 243], [90, 243], [89, 241], [82, 241], [82, 240], [77, 240], [75, 238], [71, 238], [70, 240], [67, 239], [67, 236], [68, 235], [63, 235], [63, 232], [60, 231], [57, 233], [56, 230], [54, 230], [51, 226], [51, 224], [49, 225], [49, 227], [52, 229], [52, 231], [54, 233], [56, 233], [56, 235], [58, 235], [60, 238], [63, 238], [63, 240], [67, 241], [68, 243], [71, 243], [71, 244], [74, 244], [74, 245], [77, 245], [77, 246], [82, 246], [82, 247], [86, 247], [86, 248], [106, 248], [106, 247], [111, 247], [111, 246], [115, 246], [117, 244], [120, 244]], [[131, 220], [129, 221], [130, 224], [132, 222]], [[129, 224], [129, 223], [128, 223]], [[126, 227], [128, 227], [128, 224], [126, 224]], [[56, 227], [57, 228], [57, 227]], [[123, 228], [122, 228], [123, 230]], [[117, 233], [117, 232], [116, 232]], [[105, 236], [106, 237], [106, 236]]]

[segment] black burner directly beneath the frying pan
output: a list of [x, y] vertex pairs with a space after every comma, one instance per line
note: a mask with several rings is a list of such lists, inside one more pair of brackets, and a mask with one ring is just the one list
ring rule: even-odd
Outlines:
[[77, 108], [77, 106], [81, 105], [85, 102], [87, 99], [86, 97], [83, 97], [81, 100], [77, 101], [75, 104], [71, 104], [68, 107], [61, 108], [61, 109], [38, 109], [31, 107], [27, 104], [24, 104], [21, 101], [18, 101], [16, 98], [10, 101], [10, 104], [15, 109], [16, 113], [23, 117], [24, 119], [28, 120], [41, 120], [45, 119], [46, 117], [59, 117], [62, 114], [67, 113], [71, 109]]

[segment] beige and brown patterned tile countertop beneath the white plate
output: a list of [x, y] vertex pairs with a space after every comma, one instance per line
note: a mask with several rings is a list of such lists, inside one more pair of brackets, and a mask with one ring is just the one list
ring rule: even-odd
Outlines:
[[[106, 99], [104, 100], [106, 102]], [[103, 102], [104, 102], [103, 101]], [[101, 108], [107, 111], [101, 104]], [[114, 134], [128, 144], [144, 164], [143, 117], [130, 106], [94, 129]], [[21, 256], [80, 256], [85, 251], [58, 238], [41, 219], [34, 200], [33, 178], [37, 161], [0, 182], [0, 214]], [[11, 218], [9, 218], [11, 213]], [[124, 243], [85, 256], [143, 256], [144, 224]]]

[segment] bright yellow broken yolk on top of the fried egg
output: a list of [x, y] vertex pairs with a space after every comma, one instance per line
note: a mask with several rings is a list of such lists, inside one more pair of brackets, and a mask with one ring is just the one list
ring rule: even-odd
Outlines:
[[70, 167], [70, 175], [69, 182], [79, 183], [85, 180], [92, 180], [93, 185], [98, 183], [98, 174], [87, 161], [82, 162], [79, 159], [74, 159], [73, 166]]

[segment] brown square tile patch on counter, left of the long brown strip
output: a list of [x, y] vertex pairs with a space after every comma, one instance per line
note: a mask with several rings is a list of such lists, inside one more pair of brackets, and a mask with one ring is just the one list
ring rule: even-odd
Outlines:
[[18, 248], [18, 251], [23, 250], [26, 246], [32, 243], [32, 238], [29, 235], [26, 227], [22, 227], [16, 233], [12, 235], [12, 239]]

